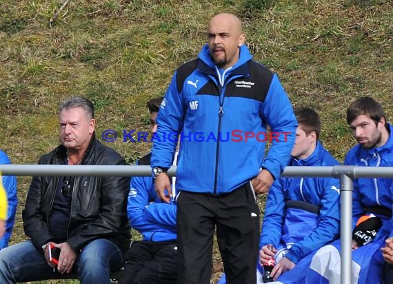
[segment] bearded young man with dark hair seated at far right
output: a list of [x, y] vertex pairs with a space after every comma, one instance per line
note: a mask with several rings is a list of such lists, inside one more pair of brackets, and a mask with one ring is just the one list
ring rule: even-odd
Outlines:
[[[347, 123], [358, 142], [345, 156], [344, 165], [392, 167], [392, 125], [380, 103], [371, 97], [354, 100], [347, 108]], [[386, 259], [392, 228], [393, 179], [354, 179], [352, 196], [352, 284], [392, 283], [393, 269]], [[359, 222], [365, 219], [364, 222]], [[368, 219], [367, 219], [368, 218]], [[385, 247], [385, 245], [387, 247]], [[384, 255], [382, 254], [383, 251]], [[308, 283], [339, 283], [341, 242], [322, 247], [307, 270]], [[385, 257], [385, 261], [384, 258]], [[385, 278], [383, 268], [385, 266]]]

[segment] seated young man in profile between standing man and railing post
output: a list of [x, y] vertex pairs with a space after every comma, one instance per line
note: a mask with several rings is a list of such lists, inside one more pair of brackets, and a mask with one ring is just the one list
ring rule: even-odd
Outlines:
[[[310, 108], [296, 108], [294, 113], [299, 126], [289, 165], [339, 165], [318, 140], [319, 115]], [[302, 282], [298, 272], [308, 267], [312, 252], [339, 236], [339, 188], [333, 178], [281, 177], [273, 183], [259, 243], [259, 264], [272, 269], [270, 276], [265, 272], [264, 281]], [[261, 274], [258, 278], [263, 283]]]

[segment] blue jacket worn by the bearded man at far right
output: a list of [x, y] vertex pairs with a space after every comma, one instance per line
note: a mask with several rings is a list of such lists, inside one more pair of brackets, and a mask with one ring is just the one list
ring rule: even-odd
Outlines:
[[[393, 167], [392, 125], [387, 124], [390, 135], [385, 145], [379, 148], [363, 149], [357, 144], [345, 157], [345, 165], [361, 167]], [[392, 192], [393, 179], [359, 178], [354, 179], [352, 196], [352, 226], [365, 213], [373, 213], [383, 220], [383, 226], [376, 235], [393, 236], [392, 230]]]

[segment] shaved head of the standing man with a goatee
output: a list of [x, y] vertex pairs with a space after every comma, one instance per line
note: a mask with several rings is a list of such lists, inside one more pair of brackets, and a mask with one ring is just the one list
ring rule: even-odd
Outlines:
[[214, 64], [223, 69], [235, 65], [245, 42], [240, 19], [233, 14], [216, 14], [209, 21], [208, 42]]

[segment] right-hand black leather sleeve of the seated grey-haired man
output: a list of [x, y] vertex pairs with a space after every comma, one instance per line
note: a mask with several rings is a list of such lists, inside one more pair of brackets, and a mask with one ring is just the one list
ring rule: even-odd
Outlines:
[[[105, 155], [105, 153], [103, 153]], [[110, 165], [125, 165], [124, 159], [114, 159]], [[130, 190], [130, 178], [123, 176], [103, 176], [101, 181], [100, 212], [95, 219], [86, 223], [71, 236], [67, 243], [79, 251], [94, 239], [119, 236], [127, 219], [127, 196]], [[125, 223], [128, 225], [127, 223]], [[99, 232], [99, 233], [97, 233]]]

